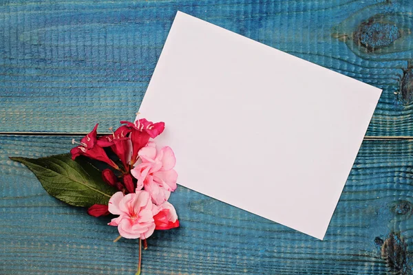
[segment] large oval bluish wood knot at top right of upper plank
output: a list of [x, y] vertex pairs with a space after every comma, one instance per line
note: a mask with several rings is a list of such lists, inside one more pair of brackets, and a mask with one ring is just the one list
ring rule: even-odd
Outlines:
[[359, 25], [353, 33], [353, 40], [357, 45], [365, 47], [368, 52], [374, 52], [381, 47], [388, 47], [400, 36], [400, 30], [396, 25], [370, 19]]

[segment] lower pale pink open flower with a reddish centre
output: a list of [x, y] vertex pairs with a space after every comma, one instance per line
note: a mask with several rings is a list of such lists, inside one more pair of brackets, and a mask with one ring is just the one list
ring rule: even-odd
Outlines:
[[155, 230], [153, 204], [144, 190], [123, 195], [116, 192], [109, 199], [109, 212], [118, 214], [109, 225], [118, 226], [120, 236], [126, 239], [147, 239]]

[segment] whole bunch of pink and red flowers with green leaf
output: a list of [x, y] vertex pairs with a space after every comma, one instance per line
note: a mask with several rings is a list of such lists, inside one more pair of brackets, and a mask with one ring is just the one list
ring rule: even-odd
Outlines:
[[94, 217], [114, 214], [108, 225], [117, 226], [120, 238], [139, 239], [138, 272], [142, 246], [154, 230], [179, 226], [176, 210], [168, 202], [177, 188], [175, 155], [154, 139], [164, 122], [145, 118], [122, 124], [110, 135], [98, 137], [97, 128], [81, 139], [70, 154], [39, 159], [10, 157], [28, 166], [43, 188], [72, 206], [87, 208]]

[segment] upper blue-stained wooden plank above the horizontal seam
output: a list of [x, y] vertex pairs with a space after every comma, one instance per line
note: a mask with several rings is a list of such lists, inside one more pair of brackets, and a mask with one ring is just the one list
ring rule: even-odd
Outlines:
[[0, 132], [133, 118], [177, 10], [384, 89], [368, 135], [413, 136], [410, 0], [0, 1]]

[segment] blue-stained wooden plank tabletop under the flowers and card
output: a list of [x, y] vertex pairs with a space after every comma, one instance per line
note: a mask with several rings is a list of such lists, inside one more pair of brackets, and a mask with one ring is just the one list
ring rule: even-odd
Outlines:
[[134, 274], [136, 241], [8, 156], [134, 118], [177, 10], [383, 94], [324, 241], [179, 187], [181, 227], [151, 236], [142, 274], [412, 274], [411, 0], [1, 0], [0, 274]]

